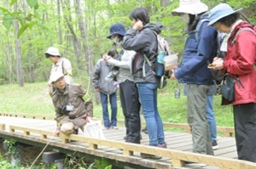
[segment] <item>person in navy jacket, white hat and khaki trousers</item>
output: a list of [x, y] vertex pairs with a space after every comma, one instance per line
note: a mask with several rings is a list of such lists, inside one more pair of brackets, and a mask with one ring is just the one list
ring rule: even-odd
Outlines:
[[[181, 16], [188, 25], [183, 52], [183, 59], [177, 69], [172, 72], [172, 79], [188, 84], [187, 119], [192, 129], [193, 152], [213, 155], [212, 140], [207, 122], [207, 93], [211, 90], [212, 75], [207, 68], [207, 60], [217, 55], [217, 31], [208, 25], [208, 21], [201, 24], [198, 39], [195, 38], [195, 28], [202, 16], [207, 12], [207, 5], [200, 0], [180, 0], [179, 7], [172, 10], [172, 15]], [[189, 164], [190, 162], [187, 161]]]

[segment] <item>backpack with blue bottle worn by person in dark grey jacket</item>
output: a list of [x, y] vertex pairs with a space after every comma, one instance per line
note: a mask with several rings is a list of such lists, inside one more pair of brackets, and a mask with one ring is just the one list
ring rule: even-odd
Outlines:
[[[169, 70], [165, 70], [165, 56], [171, 55], [172, 52], [171, 52], [168, 42], [166, 42], [166, 40], [163, 37], [160, 37], [160, 35], [157, 34], [155, 31], [153, 31], [153, 32], [154, 32], [154, 35], [156, 36], [157, 42], [158, 42], [158, 46], [157, 46], [157, 54], [158, 55], [154, 62], [153, 73], [155, 76], [161, 77], [159, 88], [163, 88], [163, 87], [166, 87], [166, 83], [167, 83], [166, 79], [170, 78]], [[148, 60], [148, 57], [146, 56], [146, 54], [144, 54], [144, 58], [148, 62], [148, 65], [150, 67], [152, 67], [152, 64]], [[143, 76], [145, 76], [145, 62], [143, 64]]]

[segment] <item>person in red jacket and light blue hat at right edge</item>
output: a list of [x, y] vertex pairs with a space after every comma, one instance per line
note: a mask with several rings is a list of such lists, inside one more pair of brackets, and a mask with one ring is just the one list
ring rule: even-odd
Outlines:
[[[218, 31], [228, 34], [222, 44], [227, 52], [224, 59], [214, 58], [214, 69], [235, 78], [235, 100], [223, 99], [222, 104], [233, 104], [236, 149], [239, 160], [256, 161], [256, 32], [253, 25], [239, 20], [238, 9], [221, 3], [209, 12], [210, 23]], [[255, 30], [255, 28], [254, 28]]]

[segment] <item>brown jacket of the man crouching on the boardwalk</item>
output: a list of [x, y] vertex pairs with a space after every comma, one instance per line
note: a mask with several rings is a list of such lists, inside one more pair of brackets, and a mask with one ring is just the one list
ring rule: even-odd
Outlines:
[[[55, 106], [55, 115], [57, 121], [57, 130], [60, 130], [62, 124], [73, 122], [74, 128], [84, 127], [86, 124], [86, 117], [93, 115], [93, 103], [91, 99], [82, 99], [86, 91], [79, 84], [67, 84], [64, 93], [58, 89], [52, 94], [53, 104]], [[86, 103], [84, 104], [84, 100]], [[73, 105], [73, 111], [68, 115], [61, 112], [61, 107], [65, 105]]]

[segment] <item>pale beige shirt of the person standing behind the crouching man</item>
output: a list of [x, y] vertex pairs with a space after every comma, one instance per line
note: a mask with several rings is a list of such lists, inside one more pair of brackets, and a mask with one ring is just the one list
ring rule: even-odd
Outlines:
[[[63, 65], [63, 69], [62, 69], [62, 65]], [[73, 83], [72, 65], [68, 59], [61, 58], [57, 63], [53, 64], [51, 66], [50, 75], [55, 71], [59, 71], [65, 75], [64, 76], [65, 82], [67, 82], [68, 84]], [[51, 83], [50, 80], [48, 83]]]

